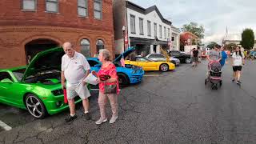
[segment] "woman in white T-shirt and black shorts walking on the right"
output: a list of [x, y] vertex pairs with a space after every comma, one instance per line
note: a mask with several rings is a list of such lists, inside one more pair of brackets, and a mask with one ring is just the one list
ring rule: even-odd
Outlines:
[[241, 85], [240, 77], [241, 77], [242, 66], [244, 64], [245, 64], [245, 56], [242, 53], [240, 46], [237, 46], [234, 53], [232, 54], [232, 66], [234, 71], [232, 82], [236, 80], [238, 85]]

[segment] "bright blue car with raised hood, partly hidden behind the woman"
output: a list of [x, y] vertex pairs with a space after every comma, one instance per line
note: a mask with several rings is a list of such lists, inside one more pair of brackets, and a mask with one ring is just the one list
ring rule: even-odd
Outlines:
[[[118, 72], [118, 81], [121, 86], [127, 86], [129, 84], [138, 83], [142, 81], [144, 70], [142, 67], [133, 66], [133, 65], [126, 65], [125, 67], [121, 66], [121, 58], [122, 55], [126, 58], [127, 55], [132, 53], [135, 49], [131, 47], [130, 49], [126, 50], [123, 54], [119, 55], [118, 58], [114, 60], [114, 65], [117, 68]], [[102, 62], [98, 60], [98, 58], [87, 58], [87, 61], [90, 64], [90, 70], [95, 70], [98, 72], [102, 66]]]

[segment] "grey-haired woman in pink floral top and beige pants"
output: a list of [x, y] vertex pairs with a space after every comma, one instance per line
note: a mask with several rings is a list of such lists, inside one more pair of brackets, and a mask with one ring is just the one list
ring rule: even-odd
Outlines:
[[[116, 71], [116, 67], [114, 64], [110, 61], [110, 51], [106, 49], [99, 50], [98, 59], [100, 62], [102, 62], [102, 67], [98, 71], [98, 77], [101, 77], [102, 75], [109, 75], [110, 78], [106, 81], [100, 80], [99, 81], [99, 94], [98, 94], [98, 106], [101, 113], [101, 118], [98, 119], [97, 122], [95, 122], [97, 125], [102, 124], [102, 122], [106, 122], [106, 102], [107, 98], [110, 100], [110, 106], [112, 110], [112, 117], [110, 118], [110, 124], [114, 123], [118, 118], [118, 98], [117, 95], [119, 94], [119, 86], [118, 86], [118, 74]], [[105, 85], [117, 85], [117, 91], [116, 94], [104, 94], [105, 92]]]

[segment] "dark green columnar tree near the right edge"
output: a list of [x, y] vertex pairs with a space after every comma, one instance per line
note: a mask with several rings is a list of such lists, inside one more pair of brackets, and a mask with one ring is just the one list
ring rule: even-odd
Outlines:
[[242, 47], [250, 50], [254, 47], [254, 31], [251, 29], [243, 30], [242, 32]]

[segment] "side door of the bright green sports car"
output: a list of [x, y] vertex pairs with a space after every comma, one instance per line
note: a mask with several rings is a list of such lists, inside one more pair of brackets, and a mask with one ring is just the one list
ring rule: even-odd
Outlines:
[[[2, 82], [4, 79], [10, 79], [11, 82]], [[15, 87], [16, 83], [14, 83], [14, 79], [10, 76], [10, 74], [6, 72], [0, 72], [0, 101], [6, 102], [10, 105], [17, 105], [18, 99], [17, 95], [15, 95]]]

